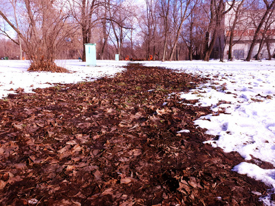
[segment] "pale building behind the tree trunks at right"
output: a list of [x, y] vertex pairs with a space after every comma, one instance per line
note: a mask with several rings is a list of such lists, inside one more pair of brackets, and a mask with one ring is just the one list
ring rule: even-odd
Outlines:
[[[240, 5], [241, 1], [236, 1], [234, 8], [225, 14], [223, 19], [223, 36], [221, 36], [221, 45], [219, 46], [219, 39], [217, 39], [216, 46], [213, 49], [212, 56], [214, 58], [220, 58], [223, 54], [223, 59], [228, 59], [229, 53], [229, 40], [230, 40], [230, 30], [232, 30], [232, 25], [235, 19], [236, 8]], [[230, 5], [227, 6], [229, 8]], [[234, 59], [245, 59], [248, 56], [248, 51], [252, 43], [256, 27], [261, 21], [261, 16], [263, 16], [265, 10], [252, 10], [251, 8], [240, 7], [239, 19], [236, 23], [235, 30], [233, 32], [233, 47], [232, 56]], [[259, 58], [269, 58], [269, 52], [272, 58], [275, 58], [275, 15], [271, 16], [268, 24], [264, 24], [259, 38], [256, 41], [256, 45], [252, 52], [252, 58], [256, 58], [259, 52], [259, 47], [263, 44], [261, 51], [259, 52]], [[266, 29], [266, 30], [265, 30]], [[265, 38], [263, 34], [265, 33]], [[263, 42], [262, 42], [263, 40]], [[262, 43], [261, 43], [262, 42]], [[221, 50], [222, 49], [222, 50]]]

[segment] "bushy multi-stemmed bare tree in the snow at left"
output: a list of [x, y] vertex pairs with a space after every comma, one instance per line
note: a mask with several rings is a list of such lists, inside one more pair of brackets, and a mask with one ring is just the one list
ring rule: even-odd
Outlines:
[[24, 6], [26, 11], [22, 18], [27, 18], [26, 21], [30, 23], [27, 30], [14, 25], [2, 10], [0, 15], [22, 39], [31, 60], [29, 70], [65, 71], [54, 63], [59, 52], [58, 47], [65, 43], [67, 36], [67, 32], [62, 30], [67, 25], [69, 16], [63, 12], [63, 5], [47, 0], [24, 0], [22, 3], [21, 6]]

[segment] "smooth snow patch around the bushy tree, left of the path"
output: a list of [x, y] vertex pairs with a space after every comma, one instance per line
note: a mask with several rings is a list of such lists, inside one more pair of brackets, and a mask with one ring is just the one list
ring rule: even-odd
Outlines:
[[[57, 60], [56, 64], [72, 73], [28, 72], [28, 60], [0, 60], [0, 98], [23, 88], [25, 93], [32, 89], [51, 87], [52, 84], [76, 83], [96, 80], [103, 76], [113, 76], [123, 70], [125, 61], [98, 61], [96, 67], [85, 67], [79, 60]], [[11, 91], [12, 90], [12, 91]]]

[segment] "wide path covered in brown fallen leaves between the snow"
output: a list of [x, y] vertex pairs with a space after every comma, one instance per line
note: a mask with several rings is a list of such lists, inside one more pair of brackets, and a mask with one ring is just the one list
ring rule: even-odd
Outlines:
[[204, 81], [129, 65], [1, 100], [0, 204], [262, 205], [267, 186], [231, 171], [243, 159], [202, 143], [210, 108], [179, 103]]

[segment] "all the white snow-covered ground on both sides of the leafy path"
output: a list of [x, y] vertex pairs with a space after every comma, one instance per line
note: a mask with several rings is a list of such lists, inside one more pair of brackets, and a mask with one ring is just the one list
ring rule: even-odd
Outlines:
[[[58, 65], [74, 72], [46, 73], [27, 72], [28, 61], [0, 60], [0, 97], [5, 98], [8, 93], [14, 92], [11, 89], [19, 87], [31, 92], [37, 87], [50, 87], [52, 83], [73, 83], [111, 76], [122, 71], [120, 66], [127, 63], [97, 62], [98, 67], [85, 67], [85, 62], [61, 60], [57, 62]], [[275, 61], [142, 63], [210, 78], [208, 83], [190, 93], [181, 94], [183, 99], [199, 99], [199, 106], [212, 107], [212, 115], [195, 121], [198, 126], [207, 128], [209, 134], [219, 136], [219, 139], [206, 143], [221, 147], [225, 152], [239, 152], [247, 160], [254, 157], [268, 161], [275, 167]], [[264, 170], [245, 160], [233, 170], [275, 188], [275, 170]], [[275, 205], [270, 196], [262, 196], [261, 200], [265, 205]]]

